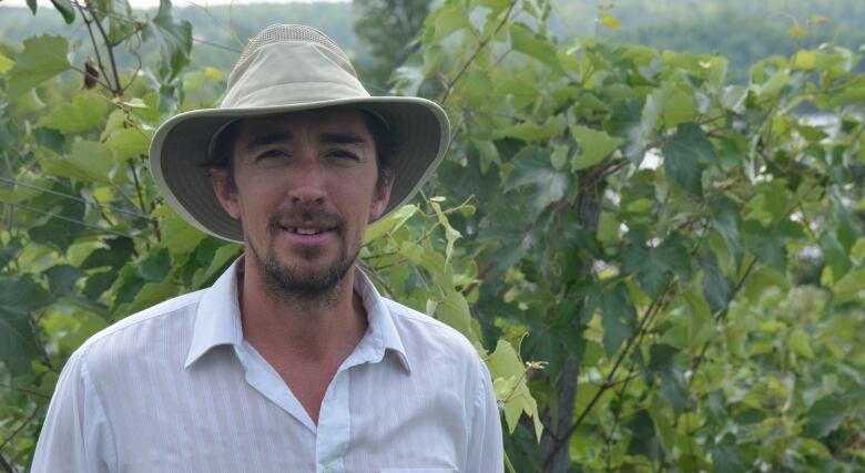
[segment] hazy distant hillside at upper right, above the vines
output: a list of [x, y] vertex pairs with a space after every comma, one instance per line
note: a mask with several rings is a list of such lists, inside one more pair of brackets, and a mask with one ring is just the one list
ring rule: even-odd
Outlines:
[[[856, 52], [865, 45], [865, 1], [862, 0], [558, 0], [550, 29], [561, 39], [596, 33], [598, 4], [614, 3], [610, 12], [622, 28], [602, 30], [610, 42], [641, 43], [661, 50], [719, 53], [732, 68], [745, 71], [772, 54], [832, 42]], [[808, 19], [824, 22], [807, 24]], [[808, 27], [802, 38], [793, 27]]]

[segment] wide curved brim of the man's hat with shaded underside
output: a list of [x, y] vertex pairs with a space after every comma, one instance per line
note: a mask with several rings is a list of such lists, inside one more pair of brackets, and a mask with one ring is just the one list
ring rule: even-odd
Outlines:
[[163, 123], [151, 142], [150, 165], [165, 200], [186, 222], [215, 237], [243, 243], [243, 227], [222, 207], [205, 163], [211, 140], [237, 119], [350, 105], [369, 110], [395, 134], [394, 186], [381, 217], [410, 199], [447, 151], [450, 127], [435, 102], [419, 97], [370, 96], [248, 109], [206, 109]]

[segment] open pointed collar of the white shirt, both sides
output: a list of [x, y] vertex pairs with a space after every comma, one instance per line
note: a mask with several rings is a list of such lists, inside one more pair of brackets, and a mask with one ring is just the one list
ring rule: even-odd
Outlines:
[[[212, 287], [204, 290], [195, 310], [195, 326], [192, 343], [184, 368], [189, 368], [211, 348], [221, 345], [240, 347], [243, 342], [241, 308], [237, 304], [237, 271], [243, 257], [235, 260]], [[373, 282], [355, 267], [355, 292], [366, 309], [368, 328], [356, 351], [362, 351], [366, 361], [379, 362], [387, 350], [397, 354], [407, 373], [411, 373], [403, 340], [394, 325], [393, 315]]]

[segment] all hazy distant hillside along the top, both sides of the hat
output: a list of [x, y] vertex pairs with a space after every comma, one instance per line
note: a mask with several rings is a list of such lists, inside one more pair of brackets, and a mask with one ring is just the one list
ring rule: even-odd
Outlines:
[[[599, 3], [554, 0], [551, 30], [561, 41], [596, 34]], [[720, 53], [731, 58], [733, 69], [740, 72], [757, 59], [790, 54], [798, 47], [834, 42], [858, 51], [865, 44], [863, 0], [618, 0], [614, 4], [611, 12], [622, 28], [599, 31], [602, 40]], [[193, 23], [196, 39], [193, 66], [230, 68], [246, 40], [273, 22], [318, 28], [343, 45], [355, 61], [362, 64], [369, 61], [354, 34], [350, 3], [263, 3], [207, 10], [185, 7], [176, 8], [175, 13]], [[141, 17], [153, 14], [153, 10], [136, 12]], [[813, 16], [824, 18], [825, 22], [812, 25], [808, 35], [800, 39], [788, 33], [791, 27], [805, 25]], [[24, 8], [0, 8], [0, 43], [20, 44], [24, 38], [42, 31], [86, 44], [84, 32], [64, 24], [51, 8], [41, 8], [35, 17]]]

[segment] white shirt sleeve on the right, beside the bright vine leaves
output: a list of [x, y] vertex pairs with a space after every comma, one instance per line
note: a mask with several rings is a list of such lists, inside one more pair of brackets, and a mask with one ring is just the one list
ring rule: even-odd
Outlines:
[[501, 439], [499, 404], [492, 392], [492, 381], [484, 361], [480, 364], [480, 387], [475, 399], [475, 417], [469, 432], [467, 473], [502, 473], [505, 448]]

